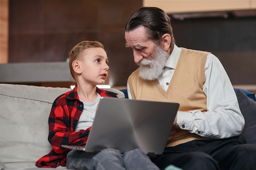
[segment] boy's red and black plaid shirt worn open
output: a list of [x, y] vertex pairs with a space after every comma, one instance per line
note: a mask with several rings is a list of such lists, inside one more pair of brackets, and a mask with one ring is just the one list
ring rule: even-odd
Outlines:
[[[116, 93], [97, 88], [97, 92], [103, 97], [117, 97]], [[67, 153], [70, 149], [61, 145], [85, 145], [90, 128], [74, 131], [83, 111], [83, 102], [74, 90], [62, 94], [54, 101], [49, 116], [48, 141], [52, 145], [52, 151], [36, 161], [37, 167], [56, 168], [66, 166]]]

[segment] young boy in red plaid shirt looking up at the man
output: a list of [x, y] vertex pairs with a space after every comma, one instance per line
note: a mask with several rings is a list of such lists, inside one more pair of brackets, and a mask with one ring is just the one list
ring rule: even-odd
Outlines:
[[71, 150], [61, 145], [85, 145], [101, 96], [117, 94], [99, 89], [108, 75], [108, 57], [98, 41], [82, 41], [69, 53], [69, 65], [76, 86], [54, 101], [49, 116], [48, 140], [53, 150], [36, 162], [37, 167], [67, 166], [80, 170], [159, 170], [139, 149], [121, 154], [107, 148], [100, 153]]

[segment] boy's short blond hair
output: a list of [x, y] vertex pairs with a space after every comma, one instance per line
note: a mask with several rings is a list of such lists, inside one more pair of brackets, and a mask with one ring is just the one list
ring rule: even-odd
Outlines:
[[83, 61], [83, 56], [88, 48], [102, 48], [105, 50], [104, 46], [99, 41], [82, 41], [79, 44], [76, 44], [76, 46], [74, 46], [69, 52], [70, 72], [75, 80], [75, 72], [73, 70], [72, 63], [75, 60]]

